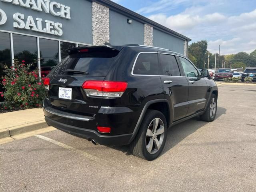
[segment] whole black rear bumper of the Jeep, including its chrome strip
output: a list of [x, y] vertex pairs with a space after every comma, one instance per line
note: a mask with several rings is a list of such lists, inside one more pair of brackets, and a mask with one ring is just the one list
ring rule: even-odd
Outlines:
[[[133, 108], [135, 109], [135, 108]], [[97, 114], [84, 116], [54, 108], [50, 102], [43, 101], [46, 123], [69, 134], [94, 139], [102, 145], [126, 145], [133, 138], [135, 124], [140, 112], [128, 107], [104, 107]], [[110, 127], [110, 133], [100, 133], [97, 126]]]

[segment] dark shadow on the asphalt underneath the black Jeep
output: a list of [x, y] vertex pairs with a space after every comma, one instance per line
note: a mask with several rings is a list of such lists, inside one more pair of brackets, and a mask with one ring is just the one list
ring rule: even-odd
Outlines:
[[[222, 108], [218, 106], [216, 118], [219, 118], [223, 114], [226, 114], [226, 108]], [[176, 146], [179, 142], [181, 142], [184, 138], [189, 136], [190, 134], [196, 132], [196, 130], [200, 129], [204, 125], [208, 124], [209, 122], [202, 121], [199, 116], [196, 116], [194, 118], [191, 118], [190, 120], [184, 121], [180, 124], [177, 124], [167, 131], [167, 139], [166, 144], [164, 146], [164, 150], [161, 155], [168, 152], [171, 148]], [[126, 146], [111, 146], [110, 148], [115, 150], [120, 150], [126, 155], [131, 155], [132, 152], [130, 151], [130, 148], [128, 145]], [[160, 155], [160, 156], [161, 156]]]

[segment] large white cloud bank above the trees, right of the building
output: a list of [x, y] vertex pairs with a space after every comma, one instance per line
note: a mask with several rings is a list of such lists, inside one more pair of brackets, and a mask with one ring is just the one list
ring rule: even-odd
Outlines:
[[[218, 6], [220, 4], [221, 2]], [[160, 5], [158, 7], [160, 8]], [[211, 52], [215, 52], [215, 48], [218, 49], [219, 44], [221, 45], [221, 54], [235, 54], [240, 51], [250, 53], [255, 50], [256, 9], [239, 15], [232, 15], [224, 11], [218, 12], [224, 9], [223, 7], [220, 6], [217, 9], [213, 2], [205, 6], [192, 6], [172, 16], [157, 13], [148, 17], [188, 36], [192, 42], [206, 39], [208, 49]], [[140, 9], [140, 11], [149, 12], [150, 9], [147, 7]]]

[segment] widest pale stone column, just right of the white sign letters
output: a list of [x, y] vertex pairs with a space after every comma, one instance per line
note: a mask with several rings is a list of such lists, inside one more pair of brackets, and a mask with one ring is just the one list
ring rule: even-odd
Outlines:
[[92, 2], [92, 43], [103, 45], [109, 42], [109, 8]]

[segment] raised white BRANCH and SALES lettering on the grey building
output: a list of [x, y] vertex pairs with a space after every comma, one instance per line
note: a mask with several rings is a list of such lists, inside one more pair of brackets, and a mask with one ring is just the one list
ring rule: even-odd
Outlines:
[[[46, 14], [52, 14], [60, 18], [70, 18], [70, 7], [55, 1], [50, 0], [0, 0], [2, 2], [11, 3], [14, 5], [30, 8], [35, 11], [45, 12]], [[26, 1], [26, 2], [25, 2]], [[7, 21], [7, 16], [4, 10], [0, 9], [0, 25], [3, 25]], [[13, 27], [17, 29], [26, 29], [35, 32], [41, 32], [46, 34], [53, 34], [56, 36], [62, 36], [62, 23], [54, 22], [51, 20], [43, 20], [42, 18], [33, 18], [32, 16], [26, 16], [22, 13], [13, 14]]]

